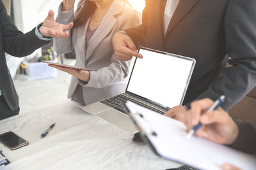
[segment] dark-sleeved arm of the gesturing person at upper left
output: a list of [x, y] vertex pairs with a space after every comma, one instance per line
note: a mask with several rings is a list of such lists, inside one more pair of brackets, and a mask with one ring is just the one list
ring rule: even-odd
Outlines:
[[23, 57], [49, 43], [49, 41], [40, 40], [35, 34], [35, 29], [26, 34], [20, 32], [7, 15], [2, 1], [0, 2], [0, 21], [4, 52], [10, 55]]

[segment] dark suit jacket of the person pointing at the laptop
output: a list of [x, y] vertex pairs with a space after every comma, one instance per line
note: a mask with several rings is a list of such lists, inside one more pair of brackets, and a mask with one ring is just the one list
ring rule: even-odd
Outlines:
[[[125, 30], [128, 36], [137, 48], [195, 58], [184, 104], [223, 94], [223, 108], [229, 110], [256, 85], [256, 1], [180, 0], [164, 36], [165, 4], [147, 0], [142, 24]], [[234, 67], [226, 68], [226, 54]]]

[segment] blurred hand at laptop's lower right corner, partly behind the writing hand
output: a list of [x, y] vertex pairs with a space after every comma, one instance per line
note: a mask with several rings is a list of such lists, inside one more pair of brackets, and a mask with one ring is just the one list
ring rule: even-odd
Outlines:
[[166, 117], [174, 118], [186, 124], [187, 121], [187, 111], [184, 106], [175, 106], [164, 114]]

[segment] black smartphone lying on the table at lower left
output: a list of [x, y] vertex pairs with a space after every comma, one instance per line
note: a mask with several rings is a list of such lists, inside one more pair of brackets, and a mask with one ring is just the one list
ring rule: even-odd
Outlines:
[[0, 134], [0, 142], [10, 150], [17, 150], [18, 148], [28, 145], [28, 141], [12, 131]]

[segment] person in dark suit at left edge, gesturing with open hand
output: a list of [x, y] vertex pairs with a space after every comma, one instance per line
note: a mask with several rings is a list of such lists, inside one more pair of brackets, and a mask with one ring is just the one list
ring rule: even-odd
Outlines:
[[19, 97], [6, 65], [4, 52], [24, 57], [49, 43], [52, 37], [67, 38], [69, 36], [67, 30], [72, 27], [73, 23], [62, 25], [55, 22], [53, 11], [49, 11], [44, 23], [23, 34], [11, 22], [3, 1], [0, 1], [0, 120], [19, 114]]

